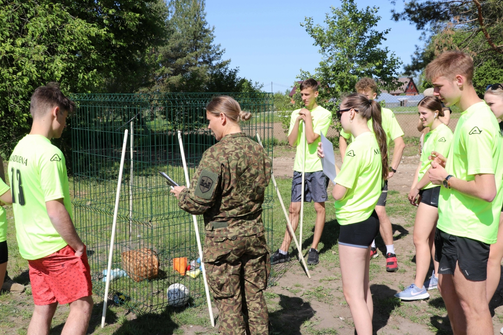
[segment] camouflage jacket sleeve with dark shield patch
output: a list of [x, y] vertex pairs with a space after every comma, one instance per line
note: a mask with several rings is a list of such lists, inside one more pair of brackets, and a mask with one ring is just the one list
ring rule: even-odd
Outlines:
[[216, 189], [220, 188], [222, 166], [211, 150], [203, 154], [190, 187], [180, 192], [178, 206], [194, 215], [203, 214], [211, 208], [218, 194]]

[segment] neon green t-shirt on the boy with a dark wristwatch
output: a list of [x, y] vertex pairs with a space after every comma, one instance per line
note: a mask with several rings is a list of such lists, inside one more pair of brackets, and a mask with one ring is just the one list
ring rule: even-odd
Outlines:
[[498, 123], [485, 102], [475, 103], [461, 113], [446, 170], [467, 181], [474, 180], [476, 174], [494, 174], [497, 193], [492, 202], [487, 202], [441, 187], [437, 227], [455, 236], [495, 243], [503, 200], [503, 154]]

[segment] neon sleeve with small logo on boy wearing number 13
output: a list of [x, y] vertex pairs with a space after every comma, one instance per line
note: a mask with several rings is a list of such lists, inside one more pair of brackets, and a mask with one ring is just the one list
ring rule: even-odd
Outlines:
[[64, 198], [63, 185], [65, 178], [67, 178], [63, 154], [56, 147], [52, 149], [43, 152], [38, 162], [40, 187], [46, 202]]

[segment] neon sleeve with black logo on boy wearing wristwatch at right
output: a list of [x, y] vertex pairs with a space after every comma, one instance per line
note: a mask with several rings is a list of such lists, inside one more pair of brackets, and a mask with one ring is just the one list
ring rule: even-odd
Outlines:
[[494, 141], [500, 141], [499, 134], [494, 134], [487, 120], [481, 121], [465, 122], [461, 130], [462, 141], [466, 145], [468, 175], [495, 173], [496, 164], [492, 157], [492, 148]]

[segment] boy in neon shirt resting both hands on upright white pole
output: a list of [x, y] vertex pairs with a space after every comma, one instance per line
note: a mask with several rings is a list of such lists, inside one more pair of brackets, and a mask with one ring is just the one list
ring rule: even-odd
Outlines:
[[[297, 147], [295, 155], [294, 173], [292, 179], [292, 198], [290, 203], [290, 221], [295, 231], [299, 222], [301, 191], [302, 191], [302, 164], [305, 160], [305, 192], [304, 201], [314, 201], [316, 210], [316, 223], [314, 226], [313, 243], [309, 249], [307, 264], [318, 264], [318, 247], [321, 233], [325, 225], [325, 201], [327, 199], [326, 188], [328, 187], [328, 177], [323, 173], [321, 160], [317, 155], [317, 146], [320, 142], [320, 134], [326, 136], [328, 127], [332, 123], [332, 114], [325, 108], [318, 106], [316, 97], [318, 96], [318, 83], [314, 79], [304, 80], [300, 84], [300, 95], [305, 108], [292, 112], [290, 118], [290, 130], [288, 132], [288, 143], [292, 147]], [[300, 121], [303, 121], [301, 124]], [[307, 149], [304, 148], [307, 142]], [[292, 242], [290, 232], [286, 230], [283, 243], [271, 258], [271, 264], [278, 264], [290, 261], [288, 248]], [[302, 243], [302, 241], [300, 242]]]

